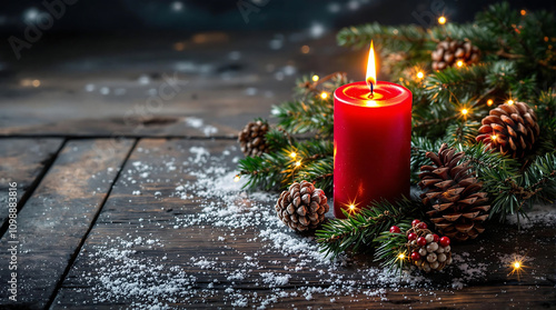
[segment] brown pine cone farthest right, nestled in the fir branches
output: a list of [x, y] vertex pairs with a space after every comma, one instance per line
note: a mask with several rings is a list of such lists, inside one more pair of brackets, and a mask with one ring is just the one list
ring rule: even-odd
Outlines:
[[539, 133], [537, 116], [527, 103], [504, 103], [483, 119], [476, 140], [483, 141], [487, 150], [523, 158], [533, 149]]

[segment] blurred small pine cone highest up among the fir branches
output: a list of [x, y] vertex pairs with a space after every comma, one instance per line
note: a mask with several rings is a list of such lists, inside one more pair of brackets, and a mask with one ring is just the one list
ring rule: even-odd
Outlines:
[[433, 59], [433, 70], [444, 70], [456, 66], [459, 60], [465, 64], [478, 62], [480, 51], [469, 41], [448, 38], [436, 46], [436, 50], [433, 51], [430, 58]]

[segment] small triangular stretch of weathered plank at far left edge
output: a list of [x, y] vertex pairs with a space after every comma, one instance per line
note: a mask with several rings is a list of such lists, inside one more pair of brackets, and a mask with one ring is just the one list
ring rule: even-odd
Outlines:
[[36, 186], [62, 139], [0, 139], [0, 227], [8, 217], [9, 183], [16, 182], [18, 202]]

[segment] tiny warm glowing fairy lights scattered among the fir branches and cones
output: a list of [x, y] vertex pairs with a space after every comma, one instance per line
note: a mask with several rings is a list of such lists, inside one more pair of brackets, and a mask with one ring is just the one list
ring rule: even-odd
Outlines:
[[[520, 13], [522, 13], [522, 16], [525, 16], [527, 12], [525, 10], [522, 10]], [[438, 23], [439, 24], [445, 26], [447, 22], [448, 22], [448, 19], [445, 16], [438, 17]], [[456, 62], [456, 67], [457, 68], [464, 68], [465, 67], [465, 62], [463, 60], [458, 60]], [[423, 81], [426, 78], [426, 72], [423, 69], [417, 69], [416, 73], [415, 73], [415, 77], [417, 78], [417, 80]], [[314, 74], [311, 77], [311, 80], [314, 82], [318, 82], [319, 79], [320, 78], [317, 74]], [[320, 92], [318, 96], [321, 99], [324, 99], [324, 100], [326, 100], [328, 98], [328, 93], [326, 91]], [[505, 103], [507, 103], [509, 106], [514, 104], [515, 102], [516, 102], [516, 100], [515, 100], [515, 98], [512, 98], [512, 96], [509, 96], [509, 99], [507, 99], [505, 101]], [[475, 104], [477, 104], [477, 103], [475, 103]], [[475, 107], [475, 104], [473, 104], [470, 107], [465, 107], [465, 106], [460, 107], [459, 113], [461, 114], [461, 117], [467, 118], [469, 116], [469, 113], [471, 113], [473, 108]], [[486, 104], [488, 107], [492, 107], [494, 104], [494, 99], [487, 99], [486, 100]], [[496, 141], [496, 139], [497, 139], [496, 134], [494, 134], [492, 138], [493, 138], [493, 141]], [[288, 156], [289, 156], [289, 158], [291, 158], [292, 170], [301, 168], [301, 166], [302, 166], [302, 158], [300, 158], [299, 154], [295, 150], [290, 151], [290, 153]], [[236, 174], [235, 178], [234, 178], [234, 181], [238, 182], [240, 180], [240, 178], [241, 178], [240, 174]], [[358, 206], [358, 203], [356, 203], [355, 200], [348, 202], [347, 203], [348, 212], [349, 213], [356, 212], [357, 206]], [[404, 263], [407, 260], [409, 260], [409, 256], [407, 256], [407, 253], [405, 251], [401, 251], [401, 252], [398, 253], [397, 261], [399, 261], [399, 263]], [[517, 280], [520, 281], [520, 276], [524, 272], [524, 268], [526, 268], [526, 266], [524, 264], [524, 262], [525, 262], [525, 258], [524, 257], [520, 257], [518, 254], [514, 254], [513, 261], [508, 266], [508, 268], [510, 269], [510, 272], [507, 276], [510, 277], [513, 274], [516, 274]]]

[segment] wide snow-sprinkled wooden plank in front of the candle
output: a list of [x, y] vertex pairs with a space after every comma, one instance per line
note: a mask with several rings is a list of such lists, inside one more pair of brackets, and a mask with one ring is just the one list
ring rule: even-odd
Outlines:
[[[398, 286], [395, 279], [388, 282], [384, 274], [377, 274], [377, 264], [369, 256], [328, 266], [304, 252], [279, 250], [272, 246], [272, 237], [261, 237], [266, 226], [274, 223], [255, 217], [274, 217], [272, 202], [225, 196], [222, 199], [231, 198], [228, 202], [244, 207], [222, 216], [217, 213], [229, 209], [217, 196], [207, 198], [199, 188], [187, 191], [195, 188], [191, 184], [198, 182], [199, 171], [208, 171], [201, 180], [207, 182], [210, 170], [218, 170], [218, 164], [234, 167], [234, 154], [238, 154], [234, 144], [218, 140], [141, 140], [53, 308], [168, 304], [195, 309], [240, 306], [235, 303], [240, 300], [249, 307], [268, 302], [268, 307], [278, 308], [327, 304], [332, 309], [556, 306], [556, 228], [519, 232], [515, 227], [493, 226], [481, 241], [454, 246], [461, 264], [469, 264], [468, 268], [451, 267], [440, 274], [427, 276], [430, 283], [420, 279], [417, 287]], [[197, 162], [196, 157], [206, 156], [203, 150], [215, 159]], [[231, 153], [222, 156], [226, 152]], [[185, 199], [176, 191], [179, 184], [189, 184]], [[217, 180], [216, 184], [210, 183], [209, 190], [219, 192], [227, 187], [226, 180]], [[214, 209], [207, 212], [206, 208]], [[268, 208], [270, 212], [254, 211], [252, 219], [244, 218], [252, 221], [246, 228], [221, 224], [226, 217], [251, 212], [249, 208]], [[211, 221], [211, 217], [216, 220]], [[197, 218], [201, 220], [183, 224], [185, 219]], [[284, 231], [295, 241], [286, 247], [314, 244]], [[272, 233], [277, 233], [278, 241], [288, 239], [278, 236], [279, 229], [272, 229]], [[530, 259], [519, 282], [515, 276], [508, 276], [507, 266], [497, 257], [514, 253], [517, 244], [519, 252]], [[470, 274], [474, 272], [481, 276]], [[276, 277], [286, 280], [271, 280]], [[461, 278], [468, 287], [453, 289], [453, 278]], [[329, 303], [330, 299], [334, 303]]]

